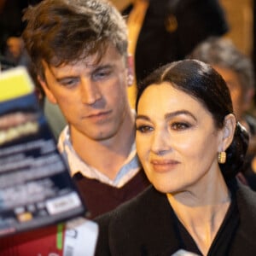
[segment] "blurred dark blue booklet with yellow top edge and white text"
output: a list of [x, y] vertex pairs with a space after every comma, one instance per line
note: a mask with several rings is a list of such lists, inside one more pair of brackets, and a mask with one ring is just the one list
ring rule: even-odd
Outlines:
[[26, 68], [0, 73], [0, 237], [85, 212]]

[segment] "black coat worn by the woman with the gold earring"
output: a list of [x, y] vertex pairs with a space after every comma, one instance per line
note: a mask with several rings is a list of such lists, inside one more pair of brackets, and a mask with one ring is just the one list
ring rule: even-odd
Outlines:
[[[235, 196], [240, 224], [231, 243], [230, 255], [254, 256], [256, 193], [239, 183]], [[100, 225], [96, 256], [171, 256], [179, 249], [171, 214], [172, 207], [166, 195], [150, 186], [134, 200], [96, 219]]]

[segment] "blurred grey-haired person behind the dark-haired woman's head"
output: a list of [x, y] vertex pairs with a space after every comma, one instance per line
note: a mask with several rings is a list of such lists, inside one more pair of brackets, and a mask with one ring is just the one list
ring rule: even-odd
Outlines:
[[248, 185], [256, 190], [256, 119], [252, 114], [255, 81], [253, 62], [243, 55], [229, 38], [207, 38], [188, 55], [188, 58], [212, 65], [227, 83], [236, 119], [250, 134], [247, 158], [241, 170]]

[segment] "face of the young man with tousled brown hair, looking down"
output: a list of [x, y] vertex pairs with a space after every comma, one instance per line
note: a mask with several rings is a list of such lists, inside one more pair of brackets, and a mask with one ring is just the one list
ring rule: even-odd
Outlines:
[[45, 82], [40, 82], [49, 101], [61, 108], [72, 137], [79, 134], [102, 141], [119, 132], [130, 112], [127, 69], [124, 57], [112, 45], [99, 62], [92, 55], [61, 67], [44, 63], [44, 69]]

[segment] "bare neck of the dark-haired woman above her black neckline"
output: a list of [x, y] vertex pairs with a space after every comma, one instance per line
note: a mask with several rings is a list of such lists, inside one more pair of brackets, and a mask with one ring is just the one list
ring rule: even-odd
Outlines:
[[167, 198], [201, 253], [207, 255], [230, 207], [230, 193], [224, 181], [201, 195], [186, 191], [168, 194]]

